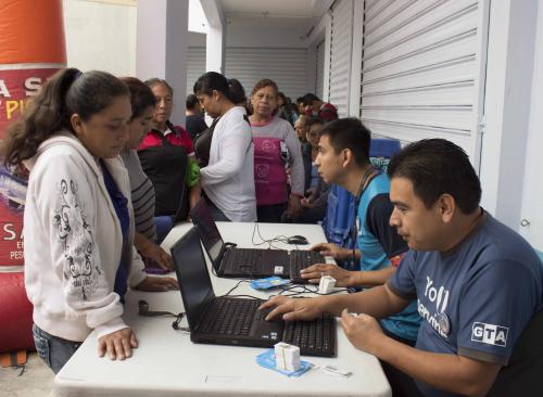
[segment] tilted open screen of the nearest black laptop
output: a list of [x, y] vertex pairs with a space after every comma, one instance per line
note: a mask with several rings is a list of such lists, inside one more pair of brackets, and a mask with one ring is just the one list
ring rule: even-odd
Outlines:
[[197, 228], [191, 228], [175, 243], [172, 257], [187, 320], [193, 330], [200, 323], [209, 300], [215, 297]]

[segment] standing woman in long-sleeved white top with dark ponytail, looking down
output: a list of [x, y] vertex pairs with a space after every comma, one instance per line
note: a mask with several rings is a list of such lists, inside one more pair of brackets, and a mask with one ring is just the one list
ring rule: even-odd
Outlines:
[[219, 117], [211, 141], [210, 163], [200, 170], [200, 181], [215, 220], [256, 220], [251, 126], [245, 110], [237, 106], [225, 76], [202, 75], [194, 94], [212, 118]]

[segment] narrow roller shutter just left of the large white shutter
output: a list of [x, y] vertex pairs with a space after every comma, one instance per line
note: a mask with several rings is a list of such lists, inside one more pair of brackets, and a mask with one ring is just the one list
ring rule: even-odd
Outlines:
[[338, 107], [339, 117], [349, 115], [352, 43], [353, 1], [338, 0], [332, 8], [328, 101]]

